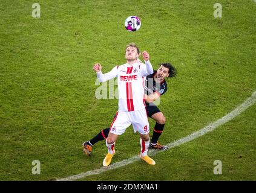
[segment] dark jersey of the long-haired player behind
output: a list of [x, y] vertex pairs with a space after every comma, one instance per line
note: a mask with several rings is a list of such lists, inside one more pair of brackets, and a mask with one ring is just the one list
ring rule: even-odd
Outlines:
[[160, 84], [156, 84], [156, 81], [154, 80], [154, 75], [156, 74], [156, 72], [157, 71], [154, 71], [153, 74], [146, 76], [144, 86], [146, 95], [151, 95], [154, 92], [159, 92], [160, 95], [163, 95], [167, 90], [167, 83], [165, 80], [163, 80], [163, 82]]

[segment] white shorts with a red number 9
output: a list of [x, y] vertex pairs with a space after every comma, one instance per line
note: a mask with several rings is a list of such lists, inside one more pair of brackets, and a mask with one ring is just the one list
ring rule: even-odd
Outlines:
[[138, 131], [140, 134], [149, 133], [148, 116], [146, 109], [130, 111], [130, 112], [117, 112], [110, 126], [110, 132], [114, 134], [123, 134], [127, 127], [133, 125], [134, 133]]

